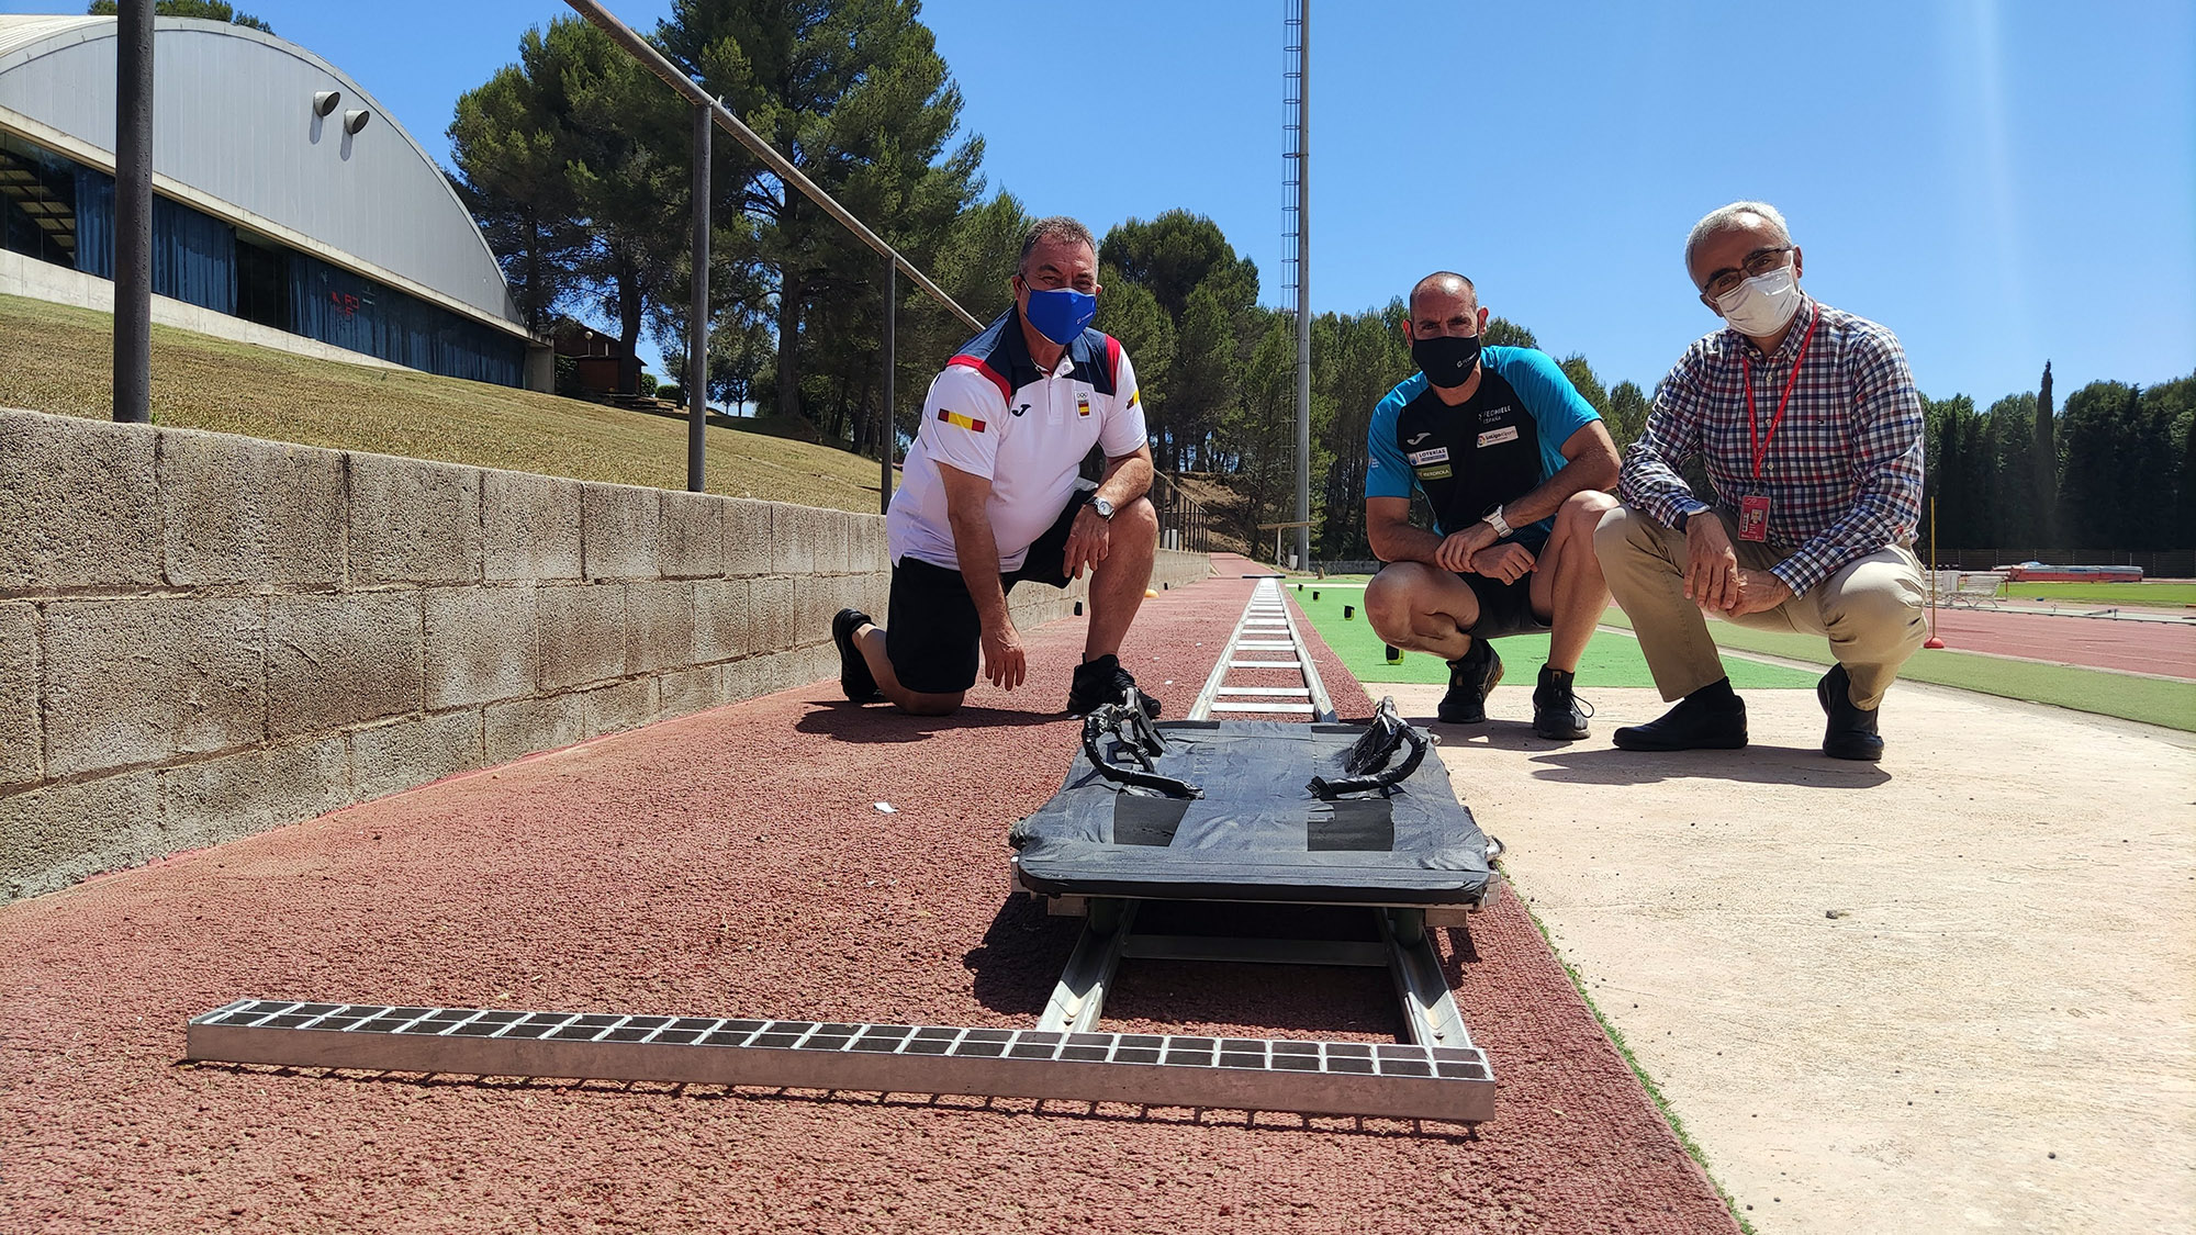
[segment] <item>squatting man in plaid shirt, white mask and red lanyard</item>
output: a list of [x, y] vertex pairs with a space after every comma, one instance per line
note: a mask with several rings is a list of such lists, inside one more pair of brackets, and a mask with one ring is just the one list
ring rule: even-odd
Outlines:
[[[1662, 699], [1623, 749], [1735, 749], [1746, 703], [1706, 615], [1827, 635], [1823, 754], [1882, 758], [1875, 708], [1922, 646], [1922, 396], [1900, 341], [1799, 290], [1783, 215], [1733, 202], [1693, 226], [1684, 264], [1726, 330], [1693, 343], [1625, 453], [1623, 505], [1594, 549]], [[1700, 459], [1713, 494], [1678, 475]]]

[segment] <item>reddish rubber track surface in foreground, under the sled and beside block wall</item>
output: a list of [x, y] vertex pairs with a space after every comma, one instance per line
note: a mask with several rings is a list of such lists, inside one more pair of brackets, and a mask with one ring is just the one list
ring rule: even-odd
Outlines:
[[[1131, 664], [1170, 714], [1250, 587], [1146, 604]], [[0, 1231], [1735, 1231], [1509, 892], [1441, 932], [1500, 1079], [1476, 1136], [180, 1061], [239, 995], [1034, 1024], [1076, 925], [1008, 894], [1004, 837], [1076, 747], [1080, 637], [1028, 633], [1028, 686], [951, 721], [828, 681], [0, 910]], [[1124, 965], [1107, 1028], [1168, 1024], [1399, 1015], [1379, 971]]]

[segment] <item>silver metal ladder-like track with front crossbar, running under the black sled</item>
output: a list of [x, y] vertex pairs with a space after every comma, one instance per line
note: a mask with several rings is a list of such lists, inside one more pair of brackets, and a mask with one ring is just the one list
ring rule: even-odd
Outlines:
[[[1223, 686], [1230, 668], [1282, 668], [1247, 650], [1282, 650], [1304, 690]], [[1252, 646], [1245, 646], [1252, 644]], [[1267, 688], [1271, 690], [1271, 688]], [[1234, 699], [1221, 699], [1232, 694]], [[1192, 708], [1298, 712], [1333, 705], [1274, 580], [1263, 580]], [[1493, 1116], [1493, 1070], [1449, 995], [1421, 910], [1368, 908], [1379, 943], [1135, 934], [1135, 901], [1058, 897], [1085, 914], [1045, 1015], [1034, 1028], [964, 1028], [806, 1020], [722, 1020], [512, 1009], [437, 1009], [248, 998], [189, 1022], [200, 1061], [477, 1077], [571, 1077], [703, 1086], [977, 1094], [1359, 1114], [1476, 1123]], [[1441, 921], [1441, 919], [1436, 919]], [[1460, 919], [1458, 919], [1460, 921]], [[1122, 958], [1386, 967], [1408, 1044], [1102, 1033], [1098, 1017]]]

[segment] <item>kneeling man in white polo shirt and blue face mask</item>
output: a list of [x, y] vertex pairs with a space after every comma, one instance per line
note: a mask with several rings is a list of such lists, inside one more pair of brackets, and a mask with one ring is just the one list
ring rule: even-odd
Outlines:
[[[1159, 516], [1135, 369], [1089, 321], [1098, 246], [1072, 218], [1030, 224], [1015, 303], [931, 380], [922, 426], [892, 494], [892, 628], [859, 609], [832, 620], [839, 686], [856, 703], [944, 716], [984, 677], [1023, 681], [1021, 633], [1006, 611], [1017, 582], [1067, 587], [1091, 571], [1091, 618], [1067, 710], [1120, 703], [1135, 686], [1120, 644], [1144, 602]], [[1098, 486], [1080, 479], [1105, 450]], [[1157, 701], [1146, 699], [1157, 714]]]

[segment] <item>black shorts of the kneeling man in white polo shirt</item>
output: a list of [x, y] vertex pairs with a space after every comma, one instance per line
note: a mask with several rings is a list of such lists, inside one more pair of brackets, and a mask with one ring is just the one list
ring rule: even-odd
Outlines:
[[[1096, 486], [1076, 488], [1061, 516], [1030, 545], [1021, 569], [999, 576], [1006, 591], [1017, 582], [1067, 587], [1067, 532]], [[984, 622], [975, 613], [968, 582], [951, 567], [900, 558], [892, 567], [892, 609], [885, 613], [885, 659], [900, 686], [918, 694], [957, 694], [975, 686]]]

